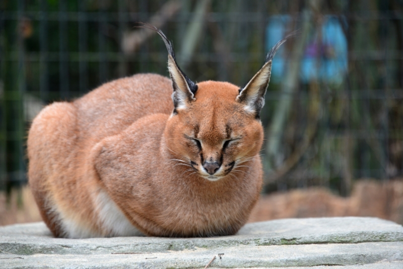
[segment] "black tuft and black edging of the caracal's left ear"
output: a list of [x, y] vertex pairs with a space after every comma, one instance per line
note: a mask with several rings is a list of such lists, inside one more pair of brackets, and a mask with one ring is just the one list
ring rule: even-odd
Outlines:
[[[185, 82], [187, 84], [187, 88], [191, 92], [191, 95], [189, 97], [194, 99], [194, 95], [196, 94], [196, 91], [197, 91], [197, 85], [194, 82], [192, 82], [186, 76], [186, 74], [183, 73], [183, 71], [179, 68], [179, 65], [177, 64], [176, 59], [175, 59], [175, 51], [173, 49], [172, 42], [165, 36], [165, 34], [160, 29], [158, 29], [154, 25], [151, 25], [151, 24], [148, 24], [148, 23], [142, 23], [142, 22], [139, 22], [138, 24], [139, 24], [139, 26], [137, 26], [137, 27], [139, 27], [139, 28], [147, 28], [147, 29], [153, 30], [153, 31], [157, 32], [161, 36], [161, 38], [164, 41], [165, 46], [166, 46], [166, 48], [168, 50], [168, 54], [171, 57], [171, 59], [170, 59], [170, 57], [168, 56], [168, 61], [171, 60], [172, 64], [174, 65], [174, 68], [179, 71], [180, 75], [183, 77], [183, 79], [185, 80]], [[175, 77], [173, 78], [174, 75], [172, 74], [171, 71], [170, 71], [170, 75], [171, 75], [172, 84], [173, 84], [172, 86], [173, 86], [174, 91], [175, 91], [178, 88], [178, 86], [179, 86], [178, 84], [180, 82], [175, 82]], [[180, 80], [180, 78], [176, 78], [176, 80]]]

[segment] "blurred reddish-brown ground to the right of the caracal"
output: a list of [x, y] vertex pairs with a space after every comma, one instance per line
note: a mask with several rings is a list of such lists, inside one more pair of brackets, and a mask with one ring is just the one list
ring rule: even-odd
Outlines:
[[324, 188], [297, 189], [262, 196], [249, 222], [282, 218], [378, 217], [403, 224], [403, 181], [360, 180], [350, 197]]

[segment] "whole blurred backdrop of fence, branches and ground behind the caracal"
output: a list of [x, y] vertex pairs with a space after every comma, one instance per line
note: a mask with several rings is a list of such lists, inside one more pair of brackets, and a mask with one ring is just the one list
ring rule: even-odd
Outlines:
[[[0, 225], [39, 221], [26, 136], [40, 109], [137, 73], [247, 83], [275, 56], [250, 221], [376, 216], [403, 224], [403, 0], [2, 0]], [[62, 154], [62, 153], [60, 153]], [[267, 195], [270, 194], [270, 195]]]

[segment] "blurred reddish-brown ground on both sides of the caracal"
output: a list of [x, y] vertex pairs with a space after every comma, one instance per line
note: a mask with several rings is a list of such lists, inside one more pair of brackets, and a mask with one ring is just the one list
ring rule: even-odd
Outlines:
[[[262, 196], [249, 222], [337, 216], [378, 217], [403, 224], [403, 181], [360, 180], [347, 198], [333, 195], [324, 188]], [[29, 187], [14, 190], [9, 201], [0, 192], [0, 225], [36, 221], [41, 221], [41, 217]]]

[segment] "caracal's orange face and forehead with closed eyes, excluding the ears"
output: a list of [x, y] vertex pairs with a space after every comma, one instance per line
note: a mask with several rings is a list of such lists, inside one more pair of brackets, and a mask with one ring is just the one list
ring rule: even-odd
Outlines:
[[[168, 120], [166, 145], [192, 172], [215, 181], [259, 152], [263, 129], [257, 114], [236, 100], [239, 87], [227, 82], [197, 84], [194, 100], [177, 107]], [[175, 165], [175, 162], [172, 163]]]

